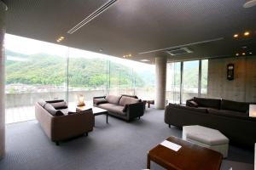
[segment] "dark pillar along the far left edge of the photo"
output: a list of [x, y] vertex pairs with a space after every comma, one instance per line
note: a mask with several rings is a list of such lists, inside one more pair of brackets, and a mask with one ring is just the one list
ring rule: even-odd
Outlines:
[[5, 34], [5, 14], [7, 7], [0, 1], [0, 160], [5, 154], [5, 79], [4, 79], [4, 48], [3, 38]]

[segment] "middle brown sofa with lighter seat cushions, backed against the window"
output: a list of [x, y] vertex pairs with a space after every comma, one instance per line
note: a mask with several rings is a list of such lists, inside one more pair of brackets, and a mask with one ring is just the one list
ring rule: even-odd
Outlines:
[[93, 105], [105, 109], [109, 115], [125, 121], [143, 116], [145, 106], [141, 99], [137, 99], [137, 96], [129, 95], [94, 97]]

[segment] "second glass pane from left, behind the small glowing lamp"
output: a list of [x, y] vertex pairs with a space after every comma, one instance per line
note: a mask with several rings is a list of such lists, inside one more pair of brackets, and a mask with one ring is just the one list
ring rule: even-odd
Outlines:
[[107, 94], [108, 55], [69, 48], [68, 102], [76, 103], [83, 95], [91, 105], [93, 97]]

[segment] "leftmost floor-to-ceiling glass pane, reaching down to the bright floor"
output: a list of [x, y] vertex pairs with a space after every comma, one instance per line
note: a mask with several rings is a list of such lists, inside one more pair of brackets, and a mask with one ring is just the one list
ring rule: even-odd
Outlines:
[[65, 99], [67, 47], [6, 34], [6, 122], [34, 118], [38, 99]]

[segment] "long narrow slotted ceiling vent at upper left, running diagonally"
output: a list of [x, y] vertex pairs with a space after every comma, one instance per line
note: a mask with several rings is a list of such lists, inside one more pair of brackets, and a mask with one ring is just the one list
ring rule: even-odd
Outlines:
[[87, 23], [90, 22], [90, 20], [95, 19], [98, 15], [102, 14], [104, 11], [106, 11], [108, 8], [110, 8], [113, 3], [117, 2], [117, 0], [110, 0], [108, 3], [105, 3], [102, 5], [102, 7], [97, 8], [96, 11], [94, 11], [92, 14], [87, 16], [84, 20], [79, 22], [76, 26], [74, 26], [72, 29], [67, 31], [69, 34], [73, 34], [73, 32], [78, 31], [82, 26], [86, 25]]

